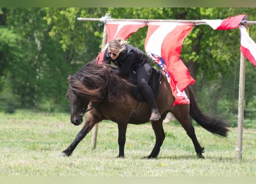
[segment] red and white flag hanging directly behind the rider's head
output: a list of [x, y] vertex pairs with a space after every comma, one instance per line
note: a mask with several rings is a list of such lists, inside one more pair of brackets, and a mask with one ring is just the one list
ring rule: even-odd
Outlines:
[[96, 57], [99, 63], [102, 62], [103, 56], [106, 48], [108, 48], [108, 43], [112, 39], [121, 38], [127, 40], [129, 36], [133, 33], [137, 32], [138, 29], [143, 28], [147, 24], [144, 22], [107, 22], [106, 23], [106, 32], [108, 34], [107, 44], [104, 49], [102, 49], [101, 53]]

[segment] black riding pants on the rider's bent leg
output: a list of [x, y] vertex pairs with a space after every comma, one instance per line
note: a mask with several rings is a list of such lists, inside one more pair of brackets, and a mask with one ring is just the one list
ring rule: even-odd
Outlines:
[[147, 62], [142, 66], [136, 68], [137, 83], [140, 91], [143, 94], [143, 97], [146, 99], [151, 109], [156, 108], [155, 97], [150, 86], [148, 86], [148, 81], [152, 74], [151, 63]]

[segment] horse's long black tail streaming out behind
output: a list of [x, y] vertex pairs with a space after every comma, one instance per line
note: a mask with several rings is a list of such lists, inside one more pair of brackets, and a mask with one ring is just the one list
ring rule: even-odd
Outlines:
[[196, 98], [192, 89], [188, 87], [188, 90], [189, 90], [189, 99], [190, 99], [189, 115], [198, 124], [200, 124], [202, 128], [207, 129], [207, 131], [223, 137], [227, 137], [227, 133], [229, 131], [227, 128], [228, 127], [227, 123], [220, 120], [215, 120], [203, 114], [197, 105]]

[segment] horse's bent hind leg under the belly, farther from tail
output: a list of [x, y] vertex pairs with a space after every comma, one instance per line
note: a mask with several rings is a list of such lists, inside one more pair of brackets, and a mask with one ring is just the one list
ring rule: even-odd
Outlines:
[[152, 123], [152, 128], [155, 132], [155, 146], [150, 155], [147, 156], [148, 159], [156, 158], [160, 152], [160, 148], [165, 140], [165, 132], [163, 131], [163, 120], [154, 121]]

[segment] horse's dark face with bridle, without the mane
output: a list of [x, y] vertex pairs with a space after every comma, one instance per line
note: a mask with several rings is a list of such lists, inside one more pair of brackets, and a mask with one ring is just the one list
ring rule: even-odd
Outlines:
[[[68, 76], [68, 79], [71, 75]], [[74, 93], [70, 85], [67, 90], [67, 98], [70, 101], [70, 121], [74, 125], [80, 125], [83, 122], [83, 114], [89, 104], [89, 101], [82, 99]]]

